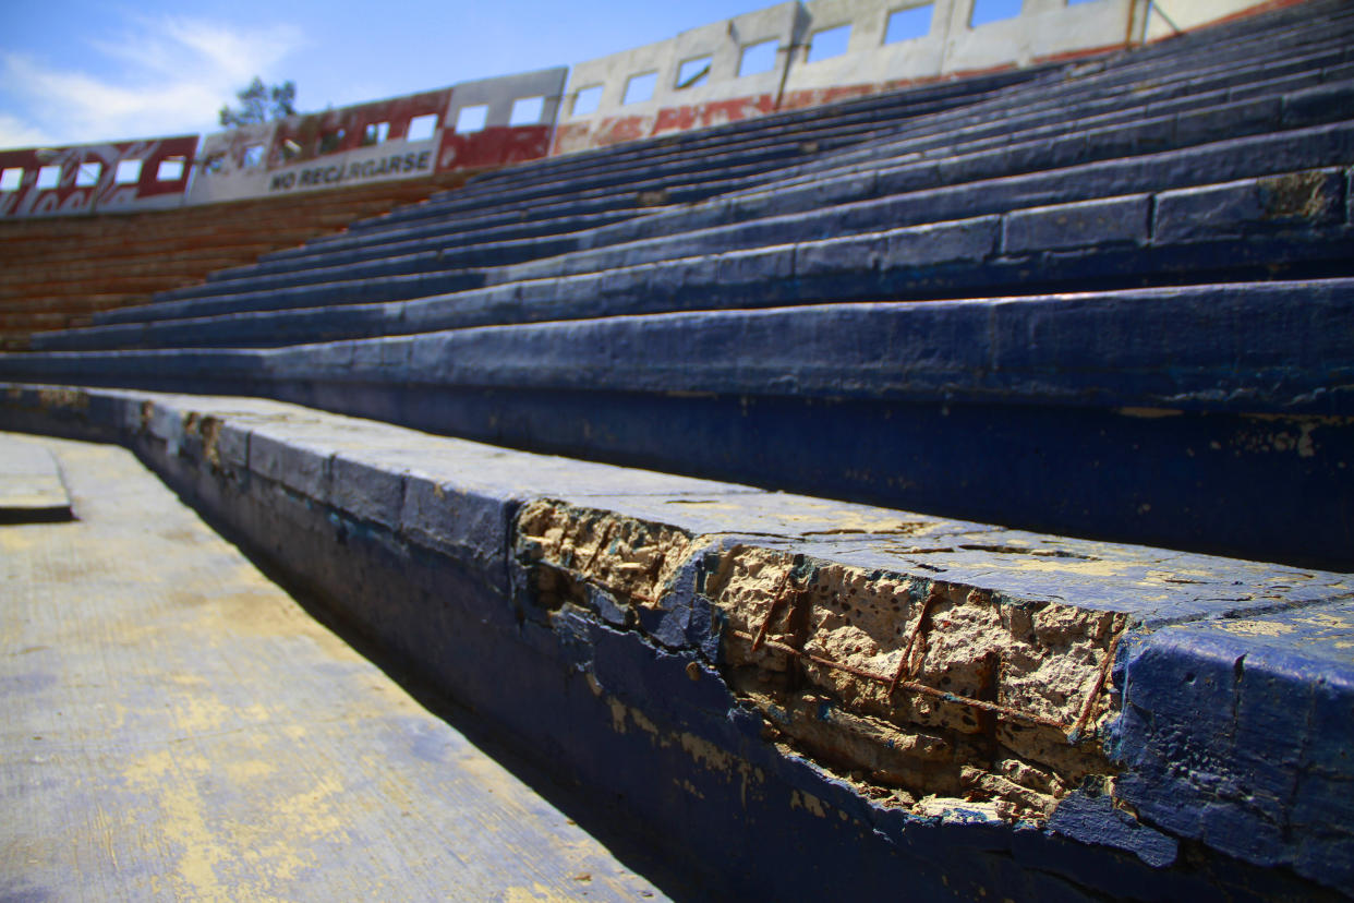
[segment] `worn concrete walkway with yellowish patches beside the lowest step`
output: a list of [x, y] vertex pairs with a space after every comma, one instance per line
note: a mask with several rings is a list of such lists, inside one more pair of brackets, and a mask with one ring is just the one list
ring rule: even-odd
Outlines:
[[127, 451], [30, 443], [77, 520], [0, 525], [0, 899], [662, 896]]

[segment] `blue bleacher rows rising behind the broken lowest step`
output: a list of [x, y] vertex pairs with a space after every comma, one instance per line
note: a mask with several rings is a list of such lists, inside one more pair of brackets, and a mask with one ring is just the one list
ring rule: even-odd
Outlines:
[[[1342, 4], [1315, 4], [1094, 62], [505, 168], [37, 334], [42, 353], [3, 372], [249, 391], [1032, 529], [1347, 566], [1339, 455], [1254, 447], [1284, 416], [1323, 417], [1293, 426], [1316, 447], [1349, 439], [1322, 387], [1354, 250], [1351, 26]], [[777, 334], [812, 344], [785, 361]], [[558, 406], [577, 417], [542, 416]], [[593, 421], [603, 437], [584, 435]], [[854, 443], [793, 443], [815, 421]], [[930, 441], [904, 443], [913, 431]], [[961, 451], [975, 443], [1007, 454]]]

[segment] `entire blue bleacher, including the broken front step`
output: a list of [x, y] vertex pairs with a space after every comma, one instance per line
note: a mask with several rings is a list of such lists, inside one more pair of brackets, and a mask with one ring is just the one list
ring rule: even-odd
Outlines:
[[1335, 899], [1354, 5], [1275, 5], [477, 175], [34, 333], [0, 422], [715, 896]]

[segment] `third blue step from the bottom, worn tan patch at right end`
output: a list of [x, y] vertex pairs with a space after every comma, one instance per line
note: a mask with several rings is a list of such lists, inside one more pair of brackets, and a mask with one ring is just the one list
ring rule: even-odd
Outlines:
[[[35, 336], [37, 351], [275, 347], [603, 315], [1347, 271], [1349, 172], [1303, 171], [1005, 217], [504, 283], [405, 303], [150, 321]], [[1225, 263], [1221, 263], [1225, 261]]]

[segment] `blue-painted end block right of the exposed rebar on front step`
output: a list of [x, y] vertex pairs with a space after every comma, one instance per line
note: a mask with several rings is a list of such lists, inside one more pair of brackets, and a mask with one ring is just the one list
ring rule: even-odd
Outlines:
[[1121, 799], [1171, 834], [1350, 887], [1350, 648], [1347, 597], [1133, 643], [1133, 704], [1113, 738]]

